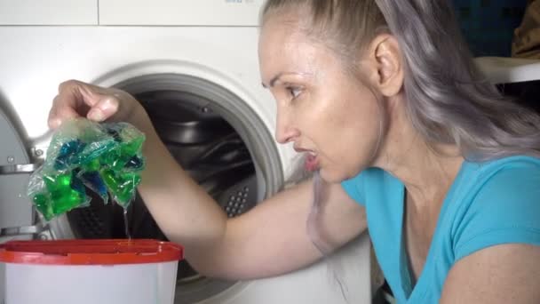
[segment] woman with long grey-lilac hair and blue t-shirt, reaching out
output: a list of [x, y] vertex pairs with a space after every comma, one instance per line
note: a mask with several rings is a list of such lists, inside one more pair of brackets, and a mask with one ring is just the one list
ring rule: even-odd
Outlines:
[[540, 118], [477, 73], [451, 12], [445, 0], [269, 0], [259, 60], [275, 137], [324, 182], [231, 220], [126, 92], [61, 84], [49, 124], [86, 116], [146, 132], [139, 192], [204, 275], [286, 273], [369, 226], [399, 302], [539, 303]]

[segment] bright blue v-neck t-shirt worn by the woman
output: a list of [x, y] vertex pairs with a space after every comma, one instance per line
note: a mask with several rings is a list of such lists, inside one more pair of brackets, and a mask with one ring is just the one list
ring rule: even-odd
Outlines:
[[480, 249], [508, 243], [540, 245], [538, 158], [511, 156], [462, 164], [442, 203], [414, 289], [401, 236], [403, 183], [388, 172], [369, 168], [342, 186], [366, 207], [377, 260], [399, 303], [439, 302], [450, 268]]

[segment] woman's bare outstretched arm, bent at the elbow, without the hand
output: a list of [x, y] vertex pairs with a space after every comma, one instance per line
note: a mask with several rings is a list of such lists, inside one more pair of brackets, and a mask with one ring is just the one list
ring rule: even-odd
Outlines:
[[[311, 180], [227, 220], [218, 204], [179, 167], [154, 129], [149, 125], [143, 129], [147, 169], [139, 193], [165, 235], [186, 247], [187, 260], [198, 272], [250, 279], [287, 273], [321, 258], [306, 230], [313, 203]], [[341, 185], [322, 187], [322, 227], [338, 247], [367, 228], [365, 210]]]

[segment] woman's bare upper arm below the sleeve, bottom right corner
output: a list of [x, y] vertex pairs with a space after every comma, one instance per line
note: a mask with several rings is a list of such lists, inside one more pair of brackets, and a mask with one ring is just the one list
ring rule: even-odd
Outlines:
[[449, 271], [441, 303], [540, 303], [540, 246], [500, 244], [459, 260]]

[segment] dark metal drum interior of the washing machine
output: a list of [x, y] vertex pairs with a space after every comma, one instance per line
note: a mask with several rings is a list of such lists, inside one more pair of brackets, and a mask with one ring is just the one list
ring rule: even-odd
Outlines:
[[[178, 92], [145, 92], [137, 97], [147, 109], [159, 136], [171, 155], [196, 180], [229, 217], [257, 204], [257, 177], [250, 151], [240, 135], [209, 108], [181, 102]], [[79, 238], [125, 237], [123, 209], [101, 204], [98, 197], [90, 207], [67, 214], [73, 234]], [[137, 196], [128, 212], [131, 237], [166, 240], [155, 220]], [[198, 275], [187, 262], [179, 266], [179, 281]]]

